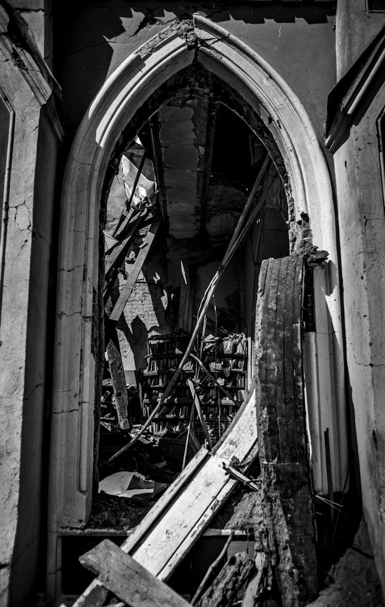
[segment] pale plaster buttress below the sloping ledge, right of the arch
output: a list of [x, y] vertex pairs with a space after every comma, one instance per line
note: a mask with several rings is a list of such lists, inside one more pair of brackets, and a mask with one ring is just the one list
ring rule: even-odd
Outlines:
[[349, 392], [363, 509], [385, 583], [385, 219], [376, 121], [385, 85], [335, 153]]

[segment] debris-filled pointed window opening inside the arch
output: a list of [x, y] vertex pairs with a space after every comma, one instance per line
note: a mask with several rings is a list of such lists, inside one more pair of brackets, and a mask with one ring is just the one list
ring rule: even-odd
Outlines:
[[[221, 439], [243, 403], [259, 266], [289, 254], [289, 237], [286, 193], [266, 148], [207, 91], [162, 106], [115, 173], [103, 231], [99, 493], [89, 525], [128, 529], [201, 446]], [[248, 198], [240, 239], [211, 295]]]

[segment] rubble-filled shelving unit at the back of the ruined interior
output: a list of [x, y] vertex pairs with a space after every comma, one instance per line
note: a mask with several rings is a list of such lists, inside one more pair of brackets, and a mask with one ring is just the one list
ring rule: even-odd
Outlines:
[[[155, 336], [148, 340], [148, 368], [143, 373], [143, 392], [147, 398], [142, 401], [144, 418], [147, 418], [158, 404], [164, 390], [179, 365], [179, 361], [190, 340], [188, 333]], [[155, 433], [184, 432], [193, 406], [192, 393], [187, 379], [190, 378], [201, 403], [201, 409], [210, 438], [215, 444], [232, 422], [239, 406], [244, 401], [247, 388], [247, 340], [242, 334], [227, 337], [204, 337], [197, 342], [197, 352], [211, 378], [199, 365], [190, 359], [184, 365], [178, 382], [169, 398], [152, 422]], [[221, 384], [227, 391], [226, 397], [218, 388]], [[198, 419], [193, 415], [194, 432], [200, 444], [205, 435]]]

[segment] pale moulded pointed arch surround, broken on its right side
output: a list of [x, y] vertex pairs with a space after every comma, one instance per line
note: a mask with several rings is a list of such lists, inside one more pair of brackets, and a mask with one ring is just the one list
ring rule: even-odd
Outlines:
[[[200, 15], [172, 25], [130, 55], [105, 81], [84, 116], [64, 176], [52, 404], [48, 569], [57, 580], [57, 537], [85, 523], [91, 507], [93, 314], [98, 288], [99, 200], [116, 141], [155, 90], [198, 60], [238, 90], [280, 149], [296, 219], [310, 218], [313, 244], [329, 252], [316, 271], [317, 335], [310, 340], [307, 402], [317, 490], [324, 478], [323, 432], [329, 427], [333, 483], [346, 470], [344, 368], [333, 197], [320, 142], [302, 104], [261, 56]], [[332, 351], [332, 357], [329, 356]], [[322, 399], [320, 386], [323, 387]], [[338, 447], [338, 449], [337, 449]]]

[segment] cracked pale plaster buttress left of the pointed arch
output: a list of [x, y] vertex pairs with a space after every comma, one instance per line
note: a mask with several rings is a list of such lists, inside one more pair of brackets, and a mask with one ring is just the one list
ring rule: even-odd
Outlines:
[[33, 596], [38, 568], [56, 141], [32, 89], [3, 56], [1, 86], [15, 129], [0, 302], [0, 604], [18, 606]]

